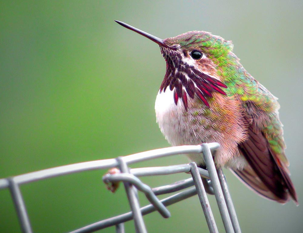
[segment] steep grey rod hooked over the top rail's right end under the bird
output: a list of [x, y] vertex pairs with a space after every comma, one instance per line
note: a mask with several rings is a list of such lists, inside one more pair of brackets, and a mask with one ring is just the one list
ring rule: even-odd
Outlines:
[[209, 173], [210, 178], [211, 178], [212, 187], [214, 188], [214, 191], [215, 191], [215, 197], [216, 197], [216, 200], [217, 200], [217, 203], [218, 203], [218, 207], [219, 207], [219, 211], [220, 211], [222, 221], [223, 221], [223, 224], [224, 224], [224, 227], [225, 227], [225, 231], [227, 233], [233, 233], [234, 229], [232, 227], [231, 220], [230, 220], [230, 217], [229, 217], [229, 214], [228, 214], [227, 206], [226, 206], [225, 199], [224, 199], [224, 196], [223, 196], [223, 192], [222, 192], [222, 189], [221, 189], [221, 185], [220, 185], [220, 181], [219, 181], [219, 178], [218, 178], [218, 174], [217, 174], [217, 170], [216, 170], [216, 167], [215, 167], [214, 160], [211, 156], [211, 152], [210, 152], [210, 149], [209, 149], [208, 145], [206, 143], [203, 143], [201, 145], [202, 145], [202, 148], [203, 148], [204, 161], [205, 161], [208, 173]]

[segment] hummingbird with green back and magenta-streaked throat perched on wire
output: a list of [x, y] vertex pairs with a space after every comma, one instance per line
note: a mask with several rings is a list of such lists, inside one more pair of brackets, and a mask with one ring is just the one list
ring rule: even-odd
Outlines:
[[[261, 196], [298, 204], [290, 179], [277, 98], [232, 52], [233, 44], [205, 31], [160, 39], [123, 27], [160, 47], [166, 73], [155, 101], [157, 123], [172, 146], [218, 142], [217, 167], [227, 167]], [[203, 157], [188, 154], [199, 167]]]

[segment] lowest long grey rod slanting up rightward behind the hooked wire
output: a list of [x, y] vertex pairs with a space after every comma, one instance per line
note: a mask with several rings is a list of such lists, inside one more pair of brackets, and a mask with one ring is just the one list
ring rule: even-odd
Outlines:
[[[195, 187], [191, 187], [185, 191], [182, 191], [180, 193], [174, 194], [168, 198], [164, 198], [160, 200], [165, 206], [169, 206], [172, 204], [177, 203], [178, 201], [182, 201], [186, 198], [190, 198], [197, 194], [197, 190]], [[156, 209], [152, 204], [149, 204], [147, 206], [144, 206], [140, 209], [142, 215], [149, 214], [151, 212], [154, 212]], [[85, 227], [76, 229], [74, 231], [71, 231], [69, 233], [91, 233], [94, 231], [98, 231], [107, 227], [115, 226], [119, 223], [130, 221], [133, 219], [133, 213], [128, 212], [125, 214], [121, 214], [112, 218], [104, 219], [98, 222], [95, 222], [93, 224], [87, 225]]]

